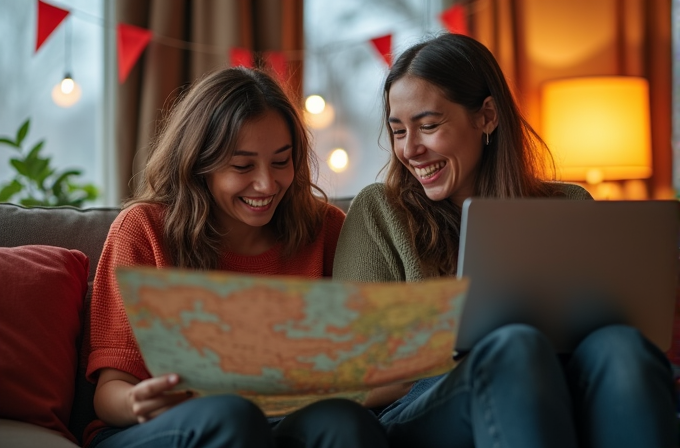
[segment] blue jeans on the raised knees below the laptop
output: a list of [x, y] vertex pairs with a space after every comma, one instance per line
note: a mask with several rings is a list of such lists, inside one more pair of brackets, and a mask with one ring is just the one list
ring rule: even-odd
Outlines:
[[396, 448], [676, 446], [670, 365], [623, 325], [562, 359], [533, 327], [502, 327], [379, 418]]

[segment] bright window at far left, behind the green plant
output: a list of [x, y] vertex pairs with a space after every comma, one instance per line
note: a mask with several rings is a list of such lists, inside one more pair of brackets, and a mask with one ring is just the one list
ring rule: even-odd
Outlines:
[[[30, 118], [25, 144], [45, 140], [42, 152], [51, 156], [52, 166], [59, 171], [80, 169], [82, 175], [74, 181], [95, 184], [101, 193], [99, 204], [107, 204], [105, 167], [111, 164], [104, 159], [104, 146], [111, 141], [105, 135], [112, 127], [105, 125], [111, 116], [105, 107], [112, 104], [105, 101], [110, 82], [105, 80], [116, 79], [105, 68], [110, 66], [104, 51], [110, 6], [105, 0], [48, 3], [69, 15], [36, 52], [38, 2], [0, 0], [0, 135], [14, 136]], [[67, 72], [82, 95], [65, 108], [55, 104], [51, 93]], [[0, 146], [0, 182], [13, 177], [11, 156], [9, 147]]]

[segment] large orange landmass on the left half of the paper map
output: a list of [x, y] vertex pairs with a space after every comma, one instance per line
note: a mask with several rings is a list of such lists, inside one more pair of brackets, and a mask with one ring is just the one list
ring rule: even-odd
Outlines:
[[[344, 342], [286, 338], [274, 330], [275, 325], [304, 319], [305, 302], [300, 295], [261, 286], [233, 292], [228, 300], [205, 289], [186, 286], [173, 287], [172, 301], [167, 300], [165, 290], [152, 287], [140, 289], [139, 296], [137, 306], [164, 318], [178, 319], [180, 312], [194, 311], [189, 306], [196, 301], [202, 304], [202, 312], [217, 315], [221, 323], [192, 321], [182, 333], [199, 352], [215, 352], [225, 372], [261, 375], [263, 368], [307, 370], [311, 363], [300, 362], [299, 358], [320, 353], [333, 358], [364, 340], [360, 335]], [[179, 300], [182, 298], [185, 300]], [[272, 304], [276, 304], [275, 310]], [[341, 332], [334, 329], [333, 333]], [[344, 333], [351, 334], [351, 328]]]

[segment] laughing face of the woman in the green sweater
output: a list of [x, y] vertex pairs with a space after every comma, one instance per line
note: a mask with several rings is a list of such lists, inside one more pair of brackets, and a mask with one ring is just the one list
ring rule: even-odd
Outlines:
[[396, 157], [428, 198], [461, 205], [474, 193], [484, 133], [496, 126], [493, 99], [470, 114], [433, 84], [405, 76], [391, 86], [388, 101]]

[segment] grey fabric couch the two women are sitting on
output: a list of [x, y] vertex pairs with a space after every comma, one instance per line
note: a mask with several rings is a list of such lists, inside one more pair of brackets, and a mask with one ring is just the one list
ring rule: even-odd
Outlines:
[[[331, 202], [347, 211], [350, 200], [342, 198]], [[89, 300], [99, 255], [109, 226], [118, 212], [117, 208], [24, 208], [13, 204], [0, 204], [0, 247], [41, 244], [77, 249], [88, 256], [90, 288], [85, 298], [83, 332], [88, 329]], [[0, 300], [6, 298], [0, 297]], [[82, 440], [83, 430], [96, 418], [93, 407], [94, 385], [85, 380], [84, 365], [85, 360], [81, 359], [75, 379], [76, 393], [69, 421], [69, 429], [78, 440]], [[0, 445], [3, 448], [75, 447], [72, 442], [54, 431], [2, 418], [0, 418]]]

